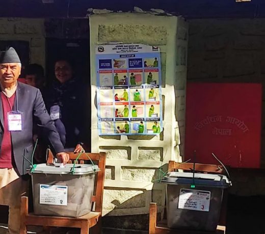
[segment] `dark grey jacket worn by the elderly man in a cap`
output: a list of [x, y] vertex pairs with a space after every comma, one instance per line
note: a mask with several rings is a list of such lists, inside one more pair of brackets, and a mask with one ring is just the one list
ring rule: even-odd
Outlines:
[[[28, 84], [18, 82], [17, 98], [15, 99], [13, 110], [21, 111], [22, 114], [22, 131], [12, 131], [12, 150], [14, 155], [14, 163], [18, 172], [22, 175], [27, 173], [26, 169], [29, 168], [30, 163], [23, 158], [31, 161], [33, 152], [33, 119], [41, 126], [44, 135], [50, 142], [51, 148], [55, 153], [64, 152], [63, 145], [60, 141], [59, 134], [55, 128], [54, 122], [45, 108], [41, 93], [35, 87]], [[0, 98], [0, 150], [4, 133], [4, 119], [2, 100]]]

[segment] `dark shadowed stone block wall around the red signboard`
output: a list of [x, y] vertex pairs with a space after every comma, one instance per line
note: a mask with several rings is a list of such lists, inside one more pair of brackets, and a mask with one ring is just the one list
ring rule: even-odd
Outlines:
[[[261, 167], [265, 166], [264, 66], [265, 19], [189, 20], [188, 81], [259, 82], [263, 85]], [[260, 173], [232, 170], [230, 192], [264, 195], [264, 179], [256, 180]]]

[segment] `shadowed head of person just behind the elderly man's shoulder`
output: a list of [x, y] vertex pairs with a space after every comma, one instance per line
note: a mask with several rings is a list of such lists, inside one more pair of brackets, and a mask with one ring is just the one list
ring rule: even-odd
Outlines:
[[44, 86], [44, 70], [39, 64], [30, 64], [25, 67], [25, 81], [42, 91]]

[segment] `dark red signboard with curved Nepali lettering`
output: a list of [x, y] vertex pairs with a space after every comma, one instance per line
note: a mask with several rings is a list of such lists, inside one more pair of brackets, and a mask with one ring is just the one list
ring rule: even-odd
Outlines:
[[185, 160], [260, 166], [261, 84], [188, 83]]

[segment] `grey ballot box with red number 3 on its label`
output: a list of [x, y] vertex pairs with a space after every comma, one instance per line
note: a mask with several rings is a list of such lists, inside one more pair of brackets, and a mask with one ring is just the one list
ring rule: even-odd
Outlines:
[[223, 190], [231, 185], [222, 174], [169, 172], [167, 224], [169, 228], [214, 231], [222, 206]]

